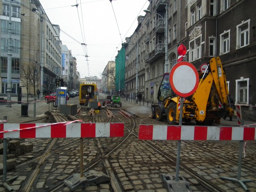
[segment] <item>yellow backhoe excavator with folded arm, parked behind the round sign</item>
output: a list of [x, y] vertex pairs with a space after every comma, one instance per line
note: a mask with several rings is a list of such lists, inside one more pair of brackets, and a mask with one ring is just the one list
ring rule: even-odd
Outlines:
[[[220, 124], [221, 117], [225, 113], [234, 114], [230, 106], [229, 92], [225, 71], [222, 68], [219, 57], [212, 57], [208, 61], [208, 67], [204, 73], [199, 74], [199, 84], [196, 92], [184, 99], [182, 121], [194, 120], [197, 125]], [[179, 122], [180, 97], [172, 91], [169, 82], [169, 73], [163, 75], [157, 93], [158, 104], [151, 105], [151, 118], [163, 121], [167, 118], [169, 125]], [[222, 104], [223, 108], [218, 105]]]

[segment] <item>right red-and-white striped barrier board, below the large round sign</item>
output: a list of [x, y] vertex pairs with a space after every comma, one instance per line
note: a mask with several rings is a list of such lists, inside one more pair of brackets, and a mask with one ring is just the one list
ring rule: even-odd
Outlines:
[[139, 125], [142, 140], [256, 140], [255, 127]]

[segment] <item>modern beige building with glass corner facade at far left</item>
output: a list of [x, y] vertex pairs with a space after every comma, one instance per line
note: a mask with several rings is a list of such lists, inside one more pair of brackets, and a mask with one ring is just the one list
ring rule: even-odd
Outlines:
[[[9, 1], [1, 1], [1, 63], [0, 93], [6, 96], [9, 41]], [[37, 89], [53, 91], [56, 75], [60, 68], [61, 41], [59, 26], [50, 23], [38, 0], [11, 1], [11, 94], [17, 96], [19, 87], [22, 95], [34, 96]], [[29, 83], [33, 81], [33, 83]]]

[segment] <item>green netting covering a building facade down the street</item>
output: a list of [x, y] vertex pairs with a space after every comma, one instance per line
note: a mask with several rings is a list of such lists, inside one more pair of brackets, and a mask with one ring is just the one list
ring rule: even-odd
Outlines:
[[[122, 48], [118, 51], [115, 62], [116, 62], [116, 74], [115, 74], [115, 91], [119, 95], [124, 93], [124, 78], [125, 78], [125, 43], [122, 43]], [[120, 92], [120, 93], [119, 93]]]

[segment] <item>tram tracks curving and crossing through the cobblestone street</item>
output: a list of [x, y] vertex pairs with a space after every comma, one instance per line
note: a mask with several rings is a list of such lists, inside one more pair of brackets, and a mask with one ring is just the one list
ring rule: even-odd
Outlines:
[[[124, 123], [124, 127], [125, 127], [125, 135], [123, 138], [94, 138], [92, 140], [95, 140], [95, 144], [96, 144], [96, 148], [97, 151], [99, 152], [99, 154], [96, 156], [96, 158], [94, 159], [90, 159], [90, 162], [86, 164], [86, 166], [84, 166], [84, 172], [87, 172], [90, 169], [94, 169], [97, 166], [104, 166], [104, 170], [106, 171], [106, 173], [113, 178], [111, 181], [111, 186], [112, 186], [112, 191], [124, 191], [122, 184], [120, 184], [120, 178], [116, 177], [117, 172], [115, 172], [115, 169], [113, 169], [112, 166], [112, 159], [113, 157], [111, 156], [111, 154], [113, 152], [119, 151], [119, 153], [122, 151], [121, 148], [123, 148], [123, 144], [129, 143], [131, 140], [134, 140], [134, 137], [136, 137], [138, 139], [138, 128], [139, 128], [139, 124], [155, 124], [154, 120], [149, 119], [147, 120], [147, 122], [145, 122], [145, 118], [144, 117], [138, 117], [138, 116], [134, 116], [134, 117], [125, 117], [125, 116], [121, 116], [120, 113], [118, 112], [117, 109], [111, 109], [113, 116], [112, 117], [108, 117], [106, 118], [105, 113], [102, 115], [96, 115], [96, 116], [82, 116], [82, 119], [84, 120], [84, 122], [101, 122], [103, 123], [103, 121], [105, 123], [117, 123], [117, 122], [121, 122]], [[153, 123], [152, 123], [153, 122]], [[35, 122], [34, 122], [35, 123]], [[157, 122], [157, 124], [160, 124], [162, 122]], [[127, 125], [127, 126], [126, 126]], [[163, 125], [166, 125], [166, 123], [163, 122]], [[58, 139], [56, 140], [58, 141]], [[54, 144], [56, 144], [56, 141], [54, 142]], [[166, 160], [168, 160], [171, 163], [172, 167], [175, 167], [176, 165], [176, 157], [175, 154], [170, 154], [168, 152], [166, 152], [166, 150], [162, 147], [162, 145], [173, 145], [176, 142], [174, 141], [161, 141], [161, 142], [157, 142], [157, 141], [144, 141], [144, 140], [139, 140], [139, 144], [140, 143], [144, 143], [146, 146], [148, 146], [148, 148], [152, 148], [154, 151], [156, 151], [159, 155], [163, 156]], [[52, 151], [53, 147], [51, 147], [51, 145], [47, 146], [50, 148], [47, 148], [47, 151], [45, 151], [45, 153], [39, 157], [37, 157], [36, 159], [30, 160], [26, 163], [20, 164], [19, 166], [17, 166], [17, 168], [20, 168], [22, 166], [25, 165], [29, 165], [29, 163], [35, 162], [35, 161], [39, 161], [38, 162], [38, 167], [42, 167], [43, 166], [43, 162], [45, 161], [45, 159], [47, 157], [50, 157], [51, 155], [60, 152], [62, 150], [64, 150], [65, 148], [71, 147], [73, 145], [78, 145], [79, 140], [76, 142], [72, 142], [69, 145], [63, 145], [62, 147], [58, 148], [57, 150]], [[84, 145], [87, 142], [84, 142]], [[193, 142], [187, 142], [187, 141], [182, 141], [182, 143], [186, 143], [187, 145], [193, 146], [193, 148], [195, 150], [200, 149], [200, 150], [204, 150], [207, 153], [211, 152], [209, 150], [207, 150], [206, 148], [200, 147], [197, 144], [194, 144]], [[52, 143], [51, 143], [52, 144]], [[54, 145], [53, 144], [53, 145]], [[159, 144], [161, 146], [159, 146]], [[183, 146], [182, 146], [183, 148]], [[232, 148], [232, 147], [230, 147]], [[221, 150], [221, 149], [220, 149]], [[212, 155], [216, 155], [216, 153], [211, 152]], [[219, 155], [219, 157], [221, 157], [221, 155]], [[223, 160], [223, 158], [222, 158]], [[229, 159], [226, 159], [225, 161], [227, 161]], [[102, 164], [101, 164], [102, 162]], [[237, 164], [236, 161], [234, 160], [229, 160], [228, 162], [233, 163], [233, 164]], [[248, 169], [247, 166], [242, 166], [245, 169]], [[192, 170], [190, 167], [186, 166], [185, 163], [181, 163], [180, 164], [180, 171], [182, 170], [182, 172], [186, 172], [187, 174], [191, 175], [193, 178], [195, 178], [199, 184], [202, 186], [201, 188], [199, 186], [197, 186], [198, 189], [202, 189], [204, 188], [204, 191], [216, 191], [216, 192], [224, 192], [226, 190], [223, 190], [221, 188], [219, 188], [216, 184], [213, 184], [212, 182], [209, 182], [208, 180], [205, 179], [205, 177], [203, 177], [202, 175], [197, 174], [196, 171]], [[250, 170], [250, 169], [248, 169]], [[254, 171], [254, 169], [252, 169], [251, 171]], [[79, 172], [78, 168], [76, 168], [76, 173]], [[35, 174], [34, 174], [35, 173]], [[37, 178], [36, 175], [40, 174], [40, 169], [34, 170], [32, 175], [35, 175], [33, 178], [29, 179], [31, 180], [29, 184], [27, 184], [28, 189], [27, 190], [23, 190], [26, 192], [32, 191], [32, 185], [35, 185], [35, 180]], [[52, 191], [60, 191], [63, 190], [66, 186], [63, 184], [63, 181], [65, 180], [65, 178], [62, 181], [58, 181], [55, 186], [50, 185], [50, 189], [46, 189], [45, 191], [47, 192], [52, 192]], [[25, 185], [23, 185], [25, 186]], [[29, 188], [30, 187], [30, 188]], [[23, 187], [24, 188], [24, 187]], [[200, 190], [198, 190], [200, 191]]]

